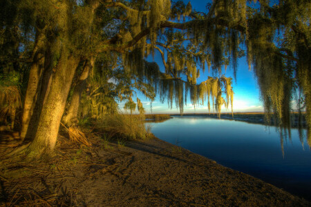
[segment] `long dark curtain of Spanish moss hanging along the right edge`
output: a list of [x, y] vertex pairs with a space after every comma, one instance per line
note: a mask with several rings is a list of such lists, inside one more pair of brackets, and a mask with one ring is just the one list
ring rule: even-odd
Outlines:
[[[284, 7], [285, 13], [282, 10]], [[310, 35], [306, 35], [310, 34], [310, 27], [305, 23], [310, 21], [310, 16], [300, 16], [310, 11], [291, 1], [282, 1], [275, 8], [270, 8], [267, 2], [261, 1], [261, 11], [252, 21], [247, 21], [246, 46], [247, 61], [249, 68], [253, 66], [258, 79], [267, 121], [272, 120], [279, 126], [281, 137], [290, 137], [292, 112], [297, 110], [293, 108], [291, 101], [296, 97], [296, 88], [300, 88], [299, 99], [295, 100], [299, 103], [296, 107], [299, 112], [299, 128], [302, 124], [301, 112], [305, 110], [307, 139], [311, 146], [311, 50]], [[274, 21], [268, 19], [267, 14], [272, 14]], [[299, 29], [296, 24], [299, 24]], [[281, 52], [274, 44], [276, 31], [280, 30], [283, 33], [283, 40], [278, 40]], [[288, 41], [289, 39], [293, 41]], [[273, 116], [271, 112], [274, 112]], [[299, 135], [302, 140], [301, 130]]]

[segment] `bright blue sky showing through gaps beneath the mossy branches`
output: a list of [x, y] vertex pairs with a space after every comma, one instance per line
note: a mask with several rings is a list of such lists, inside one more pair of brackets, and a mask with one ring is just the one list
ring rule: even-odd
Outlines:
[[[184, 2], [187, 4], [189, 1]], [[206, 4], [211, 1], [199, 1], [199, 0], [191, 0], [191, 6], [194, 10], [205, 12]], [[148, 61], [153, 61], [152, 57], [147, 59]], [[164, 66], [162, 63], [162, 59], [160, 57], [160, 53], [156, 51], [156, 55], [154, 57], [154, 61], [158, 63], [160, 66], [160, 70], [164, 71]], [[223, 70], [225, 71], [225, 70]], [[205, 81], [208, 76], [213, 76], [207, 70], [203, 73], [200, 71], [200, 77], [198, 79], [198, 83]], [[234, 77], [233, 70], [230, 66], [227, 68], [227, 72], [225, 72], [226, 77]], [[236, 75], [236, 81], [233, 81], [233, 90], [234, 90], [234, 112], [262, 112], [263, 104], [260, 101], [260, 94], [257, 86], [257, 81], [254, 78], [254, 72], [249, 71], [245, 57], [238, 60], [238, 71]], [[142, 93], [137, 92], [138, 98], [142, 101], [143, 106], [148, 113], [151, 113], [151, 104], [150, 100], [146, 99]], [[135, 97], [133, 97], [135, 100]], [[120, 103], [120, 109], [123, 109], [124, 103]], [[175, 106], [175, 104], [173, 104]], [[159, 97], [152, 103], [152, 113], [179, 113], [179, 109], [173, 107], [169, 108], [167, 101], [164, 103], [160, 103]], [[187, 99], [187, 106], [184, 106], [184, 113], [202, 113], [208, 112], [207, 104], [204, 106], [192, 106], [190, 99]], [[211, 110], [211, 112], [213, 112]], [[222, 112], [231, 112], [225, 110], [225, 107], [222, 108]]]

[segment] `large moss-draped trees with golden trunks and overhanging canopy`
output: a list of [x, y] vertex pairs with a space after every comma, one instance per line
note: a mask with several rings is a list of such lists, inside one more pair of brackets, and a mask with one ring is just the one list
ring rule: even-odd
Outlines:
[[[187, 92], [194, 104], [211, 97], [218, 112], [224, 103], [232, 105], [231, 79], [209, 78], [199, 85], [196, 79], [206, 64], [215, 75], [223, 65], [236, 71], [238, 57], [246, 54], [265, 111], [273, 111], [281, 127], [290, 129], [290, 101], [298, 88], [311, 141], [310, 2], [295, 2], [270, 6], [267, 0], [217, 0], [205, 14], [191, 11], [190, 3], [171, 5], [169, 0], [6, 0], [15, 12], [1, 17], [1, 45], [12, 40], [6, 34], [17, 30], [21, 40], [14, 42], [21, 46], [15, 43], [10, 57], [28, 54], [30, 60], [21, 130], [22, 138], [32, 139], [28, 151], [32, 156], [53, 151], [73, 79], [79, 81], [64, 117], [67, 124], [76, 116], [86, 70], [111, 53], [122, 55], [123, 69], [135, 75], [136, 84], [153, 86], [171, 107], [175, 101], [180, 112]], [[165, 72], [144, 60], [155, 50]]]

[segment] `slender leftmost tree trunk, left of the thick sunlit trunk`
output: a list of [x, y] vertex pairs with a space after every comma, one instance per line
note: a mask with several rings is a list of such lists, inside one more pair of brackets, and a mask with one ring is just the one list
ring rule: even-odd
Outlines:
[[[30, 67], [30, 74], [28, 80], [28, 86], [26, 90], [26, 97], [23, 103], [23, 116], [21, 119], [21, 141], [26, 137], [29, 137], [28, 132], [32, 132], [34, 129], [31, 124], [37, 119], [37, 115], [33, 116], [35, 105], [39, 96], [42, 72], [44, 70], [44, 34], [39, 33], [37, 36], [36, 46], [34, 48], [34, 57], [32, 65]], [[30, 126], [30, 127], [29, 127]]]

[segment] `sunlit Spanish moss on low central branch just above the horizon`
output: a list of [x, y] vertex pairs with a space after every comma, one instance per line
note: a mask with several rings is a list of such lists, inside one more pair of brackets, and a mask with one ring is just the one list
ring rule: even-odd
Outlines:
[[[182, 60], [176, 60], [174, 61], [175, 67], [180, 66], [180, 64], [176, 64], [177, 62], [184, 63]], [[184, 103], [187, 103], [186, 98], [188, 94], [194, 107], [198, 106], [200, 102], [204, 103], [207, 100], [210, 110], [210, 102], [212, 102], [213, 108], [218, 112], [219, 117], [222, 106], [228, 108], [230, 104], [233, 107], [234, 92], [232, 90], [232, 78], [208, 77], [207, 81], [203, 81], [197, 85], [198, 69], [190, 61], [186, 61], [184, 63], [185, 68], [183, 68], [183, 70], [187, 71], [187, 81], [160, 72], [156, 63], [144, 61], [142, 53], [138, 49], [124, 56], [124, 66], [127, 72], [135, 74], [140, 79], [151, 84], [155, 88], [156, 94], [159, 95], [160, 101], [168, 101], [169, 108], [173, 108], [173, 102], [175, 102], [176, 108], [180, 109], [181, 114]]]

